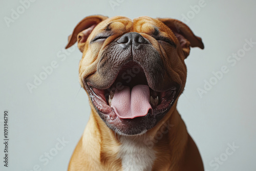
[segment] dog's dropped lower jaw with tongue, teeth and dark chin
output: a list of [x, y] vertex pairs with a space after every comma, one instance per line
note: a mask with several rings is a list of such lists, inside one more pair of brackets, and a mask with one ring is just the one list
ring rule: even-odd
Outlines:
[[[122, 71], [120, 71], [108, 89], [97, 89], [89, 82], [84, 84], [100, 118], [119, 135], [145, 134], [165, 116], [178, 97], [179, 87], [170, 87], [165, 91], [151, 89], [148, 86], [145, 73], [143, 70], [141, 71], [128, 83], [123, 81], [121, 78]], [[124, 90], [120, 90], [120, 88], [126, 88], [126, 92], [122, 92]], [[138, 101], [136, 102], [136, 100]], [[147, 106], [145, 109], [143, 102]], [[125, 109], [128, 110], [125, 111]], [[132, 110], [129, 111], [130, 109]], [[141, 113], [142, 110], [144, 111]]]

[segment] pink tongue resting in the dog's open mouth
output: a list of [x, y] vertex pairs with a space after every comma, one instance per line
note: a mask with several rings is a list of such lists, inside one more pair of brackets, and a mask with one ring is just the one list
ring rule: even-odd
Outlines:
[[116, 90], [111, 101], [111, 108], [121, 119], [133, 119], [147, 115], [148, 110], [152, 110], [150, 88], [146, 85], [137, 85], [132, 91], [127, 86], [124, 86], [122, 90]]

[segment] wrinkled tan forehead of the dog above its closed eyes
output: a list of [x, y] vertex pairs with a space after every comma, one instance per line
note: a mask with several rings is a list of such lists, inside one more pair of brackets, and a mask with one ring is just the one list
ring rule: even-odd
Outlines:
[[163, 31], [163, 23], [158, 19], [148, 16], [141, 16], [130, 19], [124, 16], [115, 16], [103, 20], [98, 26], [100, 30], [115, 30], [115, 32], [154, 32]]

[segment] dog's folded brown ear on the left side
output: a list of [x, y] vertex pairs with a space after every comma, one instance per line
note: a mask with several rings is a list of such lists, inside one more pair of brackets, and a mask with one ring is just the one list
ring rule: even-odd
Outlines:
[[88, 17], [85, 17], [79, 22], [73, 33], [69, 36], [69, 42], [68, 45], [66, 46], [66, 49], [71, 47], [72, 45], [75, 44], [77, 41], [78, 44], [78, 49], [83, 52], [84, 45], [86, 44], [86, 40], [93, 31], [93, 29], [103, 20], [107, 19], [107, 16], [103, 15], [91, 15]]

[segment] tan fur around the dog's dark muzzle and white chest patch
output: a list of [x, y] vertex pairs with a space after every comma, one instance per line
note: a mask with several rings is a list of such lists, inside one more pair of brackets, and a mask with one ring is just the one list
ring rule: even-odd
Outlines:
[[[172, 26], [168, 25], [177, 22], [177, 20], [172, 19], [170, 21], [166, 18], [154, 19], [146, 16], [131, 20], [121, 16], [106, 18], [101, 15], [89, 16], [87, 18], [90, 19], [90, 22], [96, 18], [96, 22], [94, 23], [97, 26], [93, 29], [86, 42], [78, 44], [79, 49], [83, 52], [82, 59], [79, 63], [79, 80], [83, 88], [82, 79], [89, 78], [96, 72], [99, 62], [98, 56], [100, 56], [106, 45], [124, 33], [138, 32], [147, 38], [154, 45], [155, 49], [161, 53], [161, 58], [163, 61], [166, 61], [165, 68], [171, 75], [170, 77], [182, 85], [180, 94], [182, 93], [186, 82], [184, 58], [189, 54], [190, 46], [185, 46], [182, 49], [175, 34], [169, 29]], [[83, 19], [84, 22], [86, 22], [86, 19]], [[115, 34], [108, 38], [101, 47], [99, 45], [90, 46], [89, 41], [109, 23], [112, 23], [111, 27], [116, 28]], [[147, 34], [154, 30], [153, 26], [158, 26], [165, 36], [173, 39], [177, 44], [177, 51], [173, 52], [170, 50], [168, 51], [169, 54], [164, 53], [164, 50], [158, 46], [156, 40]], [[77, 40], [75, 35], [78, 35], [79, 32], [88, 27], [82, 28], [81, 24], [80, 26], [78, 24], [77, 28], [80, 29], [75, 29], [79, 30], [78, 32], [74, 30], [67, 47], [72, 46]], [[182, 31], [184, 32], [186, 30], [189, 35], [189, 37], [185, 37], [189, 39], [187, 45], [191, 44], [193, 47], [201, 46], [203, 48], [201, 39], [196, 37], [187, 26], [182, 26]], [[169, 58], [169, 56], [172, 56], [172, 58]], [[98, 78], [98, 81], [100, 81], [100, 78]], [[75, 148], [68, 170], [122, 170], [121, 160], [118, 158], [120, 148], [119, 139], [121, 135], [116, 135], [116, 133], [106, 126], [97, 114], [91, 101], [90, 105], [92, 109], [90, 119]], [[146, 143], [145, 140], [147, 142], [154, 142], [152, 148], [156, 152], [156, 160], [153, 163], [152, 170], [202, 171], [204, 170], [203, 163], [198, 148], [193, 139], [188, 135], [186, 126], [176, 110], [176, 105], [177, 100], [169, 112], [153, 129], [148, 130], [144, 135], [134, 136], [134, 138], [141, 140], [138, 141], [140, 143]], [[163, 134], [163, 130], [166, 131], [166, 129], [168, 129], [168, 132]], [[161, 138], [158, 138], [159, 136]]]

